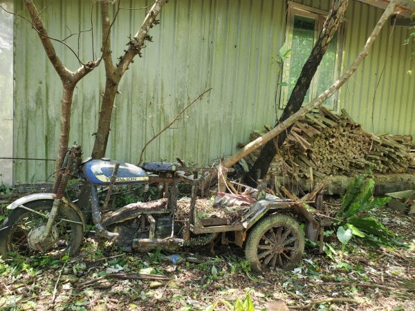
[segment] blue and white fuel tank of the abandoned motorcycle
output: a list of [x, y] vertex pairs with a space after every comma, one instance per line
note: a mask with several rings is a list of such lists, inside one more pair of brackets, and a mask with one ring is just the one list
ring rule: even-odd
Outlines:
[[82, 167], [86, 178], [94, 185], [109, 185], [116, 164], [120, 163], [116, 185], [138, 184], [149, 181], [147, 172], [136, 165], [112, 160], [89, 160]]

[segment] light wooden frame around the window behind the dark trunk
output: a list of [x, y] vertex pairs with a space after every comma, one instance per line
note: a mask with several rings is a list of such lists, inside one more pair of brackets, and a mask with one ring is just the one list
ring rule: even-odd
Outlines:
[[[287, 48], [291, 49], [293, 44], [293, 30], [294, 30], [294, 18], [295, 16], [307, 17], [310, 19], [315, 20], [315, 31], [314, 31], [314, 41], [317, 41], [317, 37], [322, 30], [322, 26], [324, 21], [326, 20], [327, 15], [329, 12], [325, 12], [322, 10], [318, 10], [315, 8], [311, 8], [308, 6], [304, 6], [299, 3], [295, 3], [293, 1], [288, 1], [288, 10], [287, 10], [287, 22], [286, 22], [286, 44]], [[344, 39], [345, 39], [345, 32], [347, 28], [347, 19], [342, 18], [341, 24], [338, 29], [338, 41], [336, 46], [336, 55], [335, 55], [335, 64], [334, 64], [334, 75], [333, 75], [333, 82], [335, 82], [341, 74], [341, 65], [344, 53]], [[320, 66], [319, 66], [320, 68]], [[317, 94], [317, 82], [320, 75], [320, 69], [317, 68], [317, 72], [315, 73], [313, 79], [311, 80], [310, 84], [310, 98], [311, 100], [315, 99], [318, 95]], [[289, 55], [286, 61], [283, 64], [282, 70], [282, 82], [289, 81], [290, 77], [290, 69], [291, 69], [291, 55]], [[287, 102], [288, 102], [288, 87], [289, 86], [281, 86], [281, 96], [279, 101], [279, 108], [284, 109]], [[306, 102], [303, 103], [307, 104]], [[333, 96], [333, 102], [329, 105], [324, 105], [327, 109], [331, 111], [338, 111], [339, 107], [339, 92], [336, 92]]]

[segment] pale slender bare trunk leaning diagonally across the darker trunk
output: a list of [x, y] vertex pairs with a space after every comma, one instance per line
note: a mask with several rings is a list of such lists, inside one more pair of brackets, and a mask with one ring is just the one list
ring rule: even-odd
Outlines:
[[226, 158], [223, 161], [223, 166], [225, 167], [232, 167], [233, 164], [239, 162], [241, 159], [243, 159], [245, 156], [250, 154], [255, 149], [258, 149], [266, 142], [269, 142], [273, 138], [275, 138], [279, 133], [282, 133], [286, 129], [288, 129], [290, 126], [292, 126], [295, 122], [297, 122], [299, 119], [304, 117], [307, 113], [309, 113], [311, 110], [317, 108], [317, 106], [320, 106], [324, 100], [331, 97], [335, 92], [338, 91], [338, 89], [353, 75], [353, 73], [356, 71], [362, 60], [367, 56], [369, 53], [369, 50], [371, 46], [374, 44], [374, 41], [378, 37], [380, 30], [382, 29], [383, 25], [385, 25], [387, 19], [391, 15], [394, 14], [394, 8], [395, 8], [395, 0], [391, 0], [385, 9], [385, 12], [383, 12], [382, 16], [380, 17], [378, 23], [376, 23], [376, 26], [374, 30], [371, 32], [371, 35], [366, 41], [365, 47], [363, 50], [359, 53], [358, 57], [356, 57], [353, 64], [351, 64], [350, 68], [347, 70], [340, 79], [338, 79], [336, 82], [334, 82], [324, 93], [322, 93], [319, 97], [317, 97], [315, 100], [308, 103], [306, 106], [302, 107], [302, 109], [299, 109], [297, 113], [293, 113], [290, 117], [288, 117], [284, 122], [281, 122], [276, 126], [274, 129], [269, 131], [268, 133], [262, 135], [261, 137], [257, 138], [256, 140], [253, 140], [249, 144], [247, 144], [243, 149], [239, 150], [237, 153], [234, 153], [232, 156]]

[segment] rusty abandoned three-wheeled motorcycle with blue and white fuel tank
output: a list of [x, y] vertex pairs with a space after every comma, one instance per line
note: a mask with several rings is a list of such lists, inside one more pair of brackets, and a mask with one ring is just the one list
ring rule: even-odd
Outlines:
[[[146, 162], [138, 167], [105, 158], [82, 162], [81, 155], [79, 145], [68, 149], [53, 193], [31, 194], [8, 205], [12, 211], [0, 227], [3, 259], [15, 254], [62, 256], [77, 252], [86, 222], [81, 209], [64, 196], [68, 181], [75, 178], [91, 185], [91, 216], [96, 234], [115, 241], [125, 251], [206, 245], [221, 234], [222, 243], [245, 248], [246, 259], [256, 270], [289, 269], [304, 253], [304, 233], [299, 223], [305, 224], [306, 236], [311, 240], [317, 240], [321, 232], [322, 223], [302, 203], [276, 197], [258, 198], [248, 206], [235, 207], [241, 209], [237, 218], [223, 213], [204, 218], [197, 194], [203, 171], [212, 169], [165, 162]], [[182, 181], [192, 185], [192, 197], [185, 207], [187, 216], [178, 220], [178, 182]], [[114, 186], [148, 187], [154, 183], [163, 188], [163, 198], [109, 209]], [[100, 198], [100, 187], [105, 187], [104, 198]]]

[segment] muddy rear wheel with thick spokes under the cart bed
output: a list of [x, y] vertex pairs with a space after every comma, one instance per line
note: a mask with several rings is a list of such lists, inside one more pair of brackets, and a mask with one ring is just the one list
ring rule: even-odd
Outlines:
[[286, 215], [271, 215], [253, 227], [246, 241], [245, 256], [257, 272], [291, 270], [304, 254], [304, 233]]

